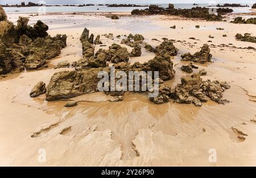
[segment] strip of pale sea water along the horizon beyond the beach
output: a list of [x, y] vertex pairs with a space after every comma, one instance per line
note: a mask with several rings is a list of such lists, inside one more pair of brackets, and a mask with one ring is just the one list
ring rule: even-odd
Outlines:
[[[162, 7], [167, 7], [168, 4], [156, 4]], [[251, 4], [248, 4], [251, 6]], [[191, 9], [192, 4], [187, 3], [179, 3], [174, 4], [176, 9]], [[207, 7], [208, 4], [198, 4], [199, 7]], [[249, 13], [251, 7], [230, 7], [233, 9], [233, 13]], [[76, 6], [51, 6], [51, 7], [4, 7], [7, 14], [26, 14], [26, 13], [104, 13], [104, 12], [131, 12], [134, 9], [147, 9], [147, 7], [107, 7], [107, 6], [84, 6], [84, 7], [76, 7]], [[98, 10], [97, 10], [98, 9]]]

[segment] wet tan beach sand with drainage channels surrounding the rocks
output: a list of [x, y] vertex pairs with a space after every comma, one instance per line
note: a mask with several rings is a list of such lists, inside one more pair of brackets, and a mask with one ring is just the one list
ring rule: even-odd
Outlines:
[[[7, 15], [13, 22], [18, 19], [18, 14]], [[238, 32], [255, 36], [254, 24], [163, 15], [111, 20], [94, 14], [30, 16], [29, 23], [38, 19], [49, 25], [50, 35], [67, 34], [67, 47], [60, 56], [49, 60], [49, 68], [0, 77], [0, 165], [256, 165], [256, 124], [250, 121], [256, 119], [256, 51], [238, 49], [256, 48], [256, 44], [234, 38]], [[199, 29], [195, 28], [197, 24]], [[173, 25], [176, 29], [170, 28]], [[224, 92], [224, 98], [230, 103], [218, 105], [208, 101], [202, 107], [173, 102], [156, 105], [148, 101], [146, 94], [131, 92], [121, 102], [110, 102], [112, 97], [92, 93], [71, 98], [82, 102], [67, 108], [67, 101], [47, 102], [45, 95], [30, 98], [30, 90], [38, 81], [48, 84], [53, 73], [73, 70], [53, 69], [53, 65], [64, 60], [72, 63], [82, 57], [79, 38], [84, 27], [94, 35], [139, 33], [152, 46], [160, 44], [151, 40], [154, 38], [176, 40], [176, 75], [165, 82], [168, 86], [179, 83], [180, 77], [186, 75], [179, 69], [185, 63], [180, 61], [182, 53], [199, 51], [204, 43], [216, 45], [210, 46], [213, 63], [196, 65], [207, 70], [204, 80], [229, 82], [231, 88]], [[216, 30], [217, 27], [224, 30]], [[121, 39], [101, 36], [101, 41], [108, 48]], [[221, 44], [230, 45], [218, 46]], [[133, 57], [131, 63], [153, 57], [154, 53], [143, 50], [142, 56]], [[246, 139], [239, 139], [240, 134], [232, 127], [247, 134]], [[45, 163], [38, 162], [40, 148], [46, 150]], [[211, 148], [217, 151], [216, 163], [208, 160]]]

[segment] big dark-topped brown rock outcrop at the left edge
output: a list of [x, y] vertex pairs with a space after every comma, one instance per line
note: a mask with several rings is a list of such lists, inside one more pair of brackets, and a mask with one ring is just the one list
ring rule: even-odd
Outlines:
[[[1, 10], [1, 16], [5, 12]], [[28, 26], [28, 18], [19, 16], [17, 26], [7, 20], [0, 22], [0, 74], [17, 69], [38, 69], [46, 60], [60, 54], [67, 40], [66, 35], [48, 35], [48, 26], [38, 20], [34, 27]]]

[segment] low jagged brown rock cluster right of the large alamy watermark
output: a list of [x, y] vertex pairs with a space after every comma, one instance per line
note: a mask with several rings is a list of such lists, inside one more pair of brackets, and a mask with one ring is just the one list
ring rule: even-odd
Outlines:
[[222, 100], [222, 93], [229, 88], [230, 85], [227, 82], [203, 81], [199, 73], [194, 73], [191, 76], [181, 77], [181, 84], [177, 84], [173, 89], [160, 85], [158, 97], [151, 98], [151, 101], [162, 104], [172, 99], [180, 104], [193, 103], [196, 106], [202, 106], [201, 102], [207, 102], [210, 98], [218, 104], [225, 104], [229, 101]]

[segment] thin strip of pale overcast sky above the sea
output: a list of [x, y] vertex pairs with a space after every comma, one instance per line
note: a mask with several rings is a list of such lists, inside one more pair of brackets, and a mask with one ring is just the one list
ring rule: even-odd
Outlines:
[[[0, 0], [0, 4], [20, 4], [20, 2], [25, 1], [26, 3], [28, 1], [31, 2], [39, 2], [39, 0]], [[255, 3], [255, 0], [245, 0], [245, 1], [238, 1], [238, 0], [215, 0], [217, 3]], [[86, 3], [133, 3], [133, 4], [139, 4], [139, 3], [209, 3], [210, 0], [174, 0], [174, 1], [168, 1], [168, 0], [44, 0], [46, 4], [86, 4]]]

